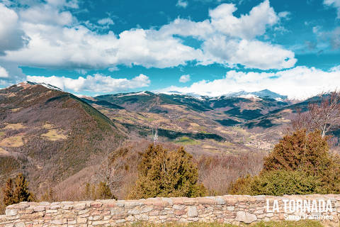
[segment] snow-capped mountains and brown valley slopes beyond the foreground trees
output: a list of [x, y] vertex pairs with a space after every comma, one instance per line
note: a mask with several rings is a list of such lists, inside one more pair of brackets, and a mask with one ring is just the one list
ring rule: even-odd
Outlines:
[[126, 141], [151, 143], [156, 133], [193, 155], [268, 152], [307, 104], [269, 90], [78, 97], [50, 84], [16, 84], [0, 89], [0, 181], [24, 172], [38, 187], [64, 182]]

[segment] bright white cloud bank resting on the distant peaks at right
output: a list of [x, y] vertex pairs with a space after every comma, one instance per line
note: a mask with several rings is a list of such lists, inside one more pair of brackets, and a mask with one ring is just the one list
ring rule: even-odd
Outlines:
[[294, 67], [278, 72], [237, 72], [231, 70], [222, 79], [202, 80], [190, 87], [168, 87], [161, 92], [179, 91], [208, 96], [220, 96], [229, 92], [256, 92], [270, 89], [290, 99], [306, 99], [321, 92], [339, 89], [340, 66], [329, 71], [314, 67]]

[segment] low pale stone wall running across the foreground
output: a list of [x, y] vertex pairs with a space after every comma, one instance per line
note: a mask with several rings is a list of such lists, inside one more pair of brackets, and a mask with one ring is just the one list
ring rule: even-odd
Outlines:
[[133, 222], [253, 223], [322, 219], [339, 226], [340, 195], [209, 196], [140, 200], [63, 201], [14, 204], [0, 226], [117, 226]]

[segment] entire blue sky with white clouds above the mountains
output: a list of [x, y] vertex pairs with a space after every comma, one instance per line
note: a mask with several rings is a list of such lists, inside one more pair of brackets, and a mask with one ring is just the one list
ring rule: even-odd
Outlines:
[[306, 99], [340, 87], [340, 0], [0, 0], [0, 88]]

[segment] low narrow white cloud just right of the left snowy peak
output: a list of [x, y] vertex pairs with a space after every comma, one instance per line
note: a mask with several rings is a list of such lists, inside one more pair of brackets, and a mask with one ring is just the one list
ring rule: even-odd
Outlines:
[[150, 84], [149, 77], [145, 74], [140, 74], [132, 79], [117, 79], [104, 76], [103, 74], [94, 74], [92, 76], [88, 75], [86, 77], [79, 77], [78, 79], [55, 76], [27, 76], [27, 80], [39, 83], [44, 82], [72, 92], [121, 92], [127, 91], [128, 89], [147, 87]]

